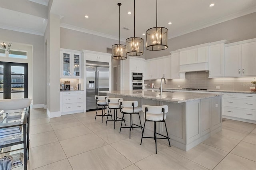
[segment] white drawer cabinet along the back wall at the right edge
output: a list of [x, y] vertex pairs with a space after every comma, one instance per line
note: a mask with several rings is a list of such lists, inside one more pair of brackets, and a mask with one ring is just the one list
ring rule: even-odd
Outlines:
[[222, 117], [256, 123], [256, 94], [223, 93]]

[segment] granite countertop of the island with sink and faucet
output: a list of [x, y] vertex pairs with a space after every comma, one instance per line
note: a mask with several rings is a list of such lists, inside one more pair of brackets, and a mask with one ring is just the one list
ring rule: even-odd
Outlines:
[[101, 93], [123, 95], [129, 97], [138, 97], [142, 99], [154, 99], [158, 101], [167, 101], [174, 103], [183, 103], [188, 101], [194, 101], [199, 99], [207, 99], [217, 96], [222, 96], [222, 94], [212, 94], [212, 93], [188, 93], [188, 92], [163, 92], [162, 97], [160, 91], [155, 90], [124, 90], [124, 91], [100, 91]]

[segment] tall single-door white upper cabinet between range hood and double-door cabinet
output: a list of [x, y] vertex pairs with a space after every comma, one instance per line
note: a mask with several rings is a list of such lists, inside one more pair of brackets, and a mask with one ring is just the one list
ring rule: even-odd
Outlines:
[[[223, 40], [222, 42], [227, 42]], [[209, 47], [209, 78], [224, 76], [224, 43]]]

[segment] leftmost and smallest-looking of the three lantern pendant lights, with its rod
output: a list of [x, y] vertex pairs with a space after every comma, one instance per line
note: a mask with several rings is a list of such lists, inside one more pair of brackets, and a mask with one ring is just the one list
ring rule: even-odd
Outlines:
[[119, 6], [119, 44], [112, 45], [112, 59], [127, 59], [126, 57], [126, 45], [120, 44], [120, 6], [121, 3], [117, 4]]

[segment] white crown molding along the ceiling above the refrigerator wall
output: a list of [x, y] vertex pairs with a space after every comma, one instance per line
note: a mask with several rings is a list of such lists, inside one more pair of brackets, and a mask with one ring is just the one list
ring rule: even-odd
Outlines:
[[[85, 28], [72, 26], [72, 25], [69, 25], [69, 24], [60, 23], [60, 27], [119, 41], [119, 38], [116, 37], [116, 36], [111, 36], [109, 34], [104, 34], [104, 33], [101, 33], [101, 32], [96, 32], [96, 31], [93, 31], [93, 30], [88, 30], [88, 29], [85, 29]], [[120, 41], [125, 42], [125, 39], [120, 38]]]

